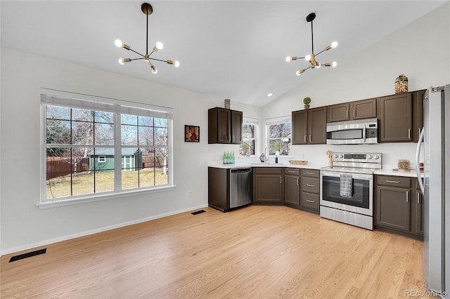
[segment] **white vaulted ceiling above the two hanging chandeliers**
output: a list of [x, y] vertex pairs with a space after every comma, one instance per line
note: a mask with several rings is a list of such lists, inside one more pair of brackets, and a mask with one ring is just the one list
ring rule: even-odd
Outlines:
[[155, 62], [153, 74], [143, 61], [117, 62], [138, 56], [117, 48], [115, 39], [146, 51], [142, 1], [1, 1], [1, 46], [263, 106], [334, 70], [309, 69], [297, 77], [308, 62], [285, 61], [311, 53], [309, 13], [316, 13], [316, 53], [339, 42], [318, 60], [339, 67], [446, 1], [149, 2], [149, 48], [164, 44], [152, 57], [179, 60], [178, 68]]

